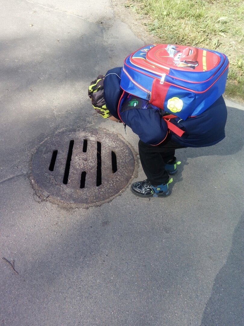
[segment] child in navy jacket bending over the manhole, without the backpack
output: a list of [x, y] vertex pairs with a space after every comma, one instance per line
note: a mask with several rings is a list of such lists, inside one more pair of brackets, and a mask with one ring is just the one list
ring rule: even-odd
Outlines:
[[142, 169], [147, 176], [144, 181], [131, 185], [133, 194], [140, 197], [169, 196], [169, 183], [177, 171], [175, 150], [184, 147], [211, 146], [224, 139], [224, 127], [227, 109], [223, 96], [220, 96], [203, 113], [180, 118], [170, 122], [184, 133], [180, 137], [172, 130], [162, 117], [167, 113], [156, 108], [148, 101], [128, 94], [118, 114], [118, 103], [123, 90], [120, 88], [121, 67], [109, 70], [105, 76], [99, 75], [91, 82], [88, 96], [95, 110], [104, 118], [124, 122], [136, 133]]

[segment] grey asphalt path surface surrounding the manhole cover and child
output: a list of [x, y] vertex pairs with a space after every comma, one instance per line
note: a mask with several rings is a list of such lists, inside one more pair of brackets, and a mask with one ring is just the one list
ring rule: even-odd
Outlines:
[[243, 325], [243, 105], [226, 100], [219, 144], [178, 150], [165, 199], [128, 187], [74, 208], [32, 188], [32, 156], [58, 131], [106, 128], [138, 153], [87, 96], [145, 44], [123, 15], [133, 24], [109, 0], [1, 1], [0, 253], [20, 274], [0, 260], [1, 326]]

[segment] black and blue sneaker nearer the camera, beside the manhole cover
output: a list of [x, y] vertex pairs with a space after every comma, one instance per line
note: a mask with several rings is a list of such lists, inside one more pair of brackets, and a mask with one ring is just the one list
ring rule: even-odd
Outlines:
[[151, 185], [149, 181], [138, 181], [131, 185], [130, 190], [134, 195], [139, 197], [166, 197], [170, 195], [169, 192], [169, 183], [171, 183], [173, 179], [169, 179], [167, 183], [162, 185]]

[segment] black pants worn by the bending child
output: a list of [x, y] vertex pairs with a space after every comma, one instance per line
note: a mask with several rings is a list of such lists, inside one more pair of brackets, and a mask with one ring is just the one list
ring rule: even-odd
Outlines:
[[139, 141], [139, 155], [142, 169], [147, 176], [147, 180], [152, 185], [161, 185], [168, 181], [169, 175], [165, 171], [165, 163], [174, 158], [177, 148], [185, 148], [171, 139], [166, 139], [161, 144], [152, 146]]

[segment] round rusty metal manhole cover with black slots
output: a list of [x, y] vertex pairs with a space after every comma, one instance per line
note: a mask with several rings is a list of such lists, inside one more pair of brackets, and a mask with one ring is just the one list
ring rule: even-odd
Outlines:
[[122, 190], [134, 157], [115, 133], [70, 131], [48, 138], [33, 157], [32, 174], [48, 195], [69, 203], [94, 203]]

